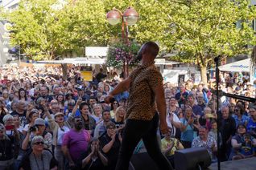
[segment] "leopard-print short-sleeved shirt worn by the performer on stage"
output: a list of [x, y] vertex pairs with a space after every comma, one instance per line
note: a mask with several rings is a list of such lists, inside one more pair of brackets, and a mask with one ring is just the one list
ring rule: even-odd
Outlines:
[[163, 77], [154, 63], [141, 65], [130, 74], [130, 95], [126, 117], [151, 120], [155, 115], [155, 93], [152, 91], [163, 83]]

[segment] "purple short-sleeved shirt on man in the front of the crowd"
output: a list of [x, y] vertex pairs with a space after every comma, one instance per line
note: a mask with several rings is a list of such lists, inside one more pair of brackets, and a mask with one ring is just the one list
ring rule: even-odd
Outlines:
[[72, 160], [76, 161], [80, 159], [82, 152], [87, 151], [89, 140], [89, 132], [85, 129], [81, 130], [81, 132], [70, 129], [70, 131], [64, 135], [62, 146], [68, 146]]

